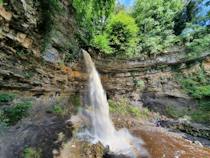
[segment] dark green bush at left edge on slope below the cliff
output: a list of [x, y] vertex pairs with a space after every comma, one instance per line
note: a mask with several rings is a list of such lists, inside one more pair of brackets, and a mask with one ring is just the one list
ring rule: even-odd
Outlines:
[[31, 106], [31, 102], [25, 101], [17, 103], [15, 106], [4, 108], [0, 111], [0, 122], [4, 122], [8, 125], [14, 125], [22, 118], [28, 116], [28, 110]]

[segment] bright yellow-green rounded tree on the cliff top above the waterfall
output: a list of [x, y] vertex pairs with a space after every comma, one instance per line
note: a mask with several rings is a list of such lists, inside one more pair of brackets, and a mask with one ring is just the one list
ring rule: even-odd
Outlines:
[[138, 26], [134, 18], [119, 11], [107, 22], [105, 31], [94, 36], [92, 44], [106, 54], [132, 56], [135, 53]]

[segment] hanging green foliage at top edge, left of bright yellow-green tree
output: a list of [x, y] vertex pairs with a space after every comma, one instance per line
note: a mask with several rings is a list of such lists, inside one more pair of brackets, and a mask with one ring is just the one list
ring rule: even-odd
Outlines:
[[77, 21], [88, 40], [104, 29], [114, 5], [115, 0], [73, 0]]

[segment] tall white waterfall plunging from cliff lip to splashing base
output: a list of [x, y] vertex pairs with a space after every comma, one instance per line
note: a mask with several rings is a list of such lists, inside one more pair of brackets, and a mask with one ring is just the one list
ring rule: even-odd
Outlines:
[[145, 155], [143, 141], [132, 136], [127, 129], [117, 131], [109, 114], [109, 104], [101, 84], [100, 76], [91, 60], [90, 55], [83, 51], [85, 65], [89, 74], [89, 108], [82, 115], [89, 121], [86, 131], [80, 136], [89, 137], [92, 143], [101, 142], [115, 154], [123, 154], [132, 158]]

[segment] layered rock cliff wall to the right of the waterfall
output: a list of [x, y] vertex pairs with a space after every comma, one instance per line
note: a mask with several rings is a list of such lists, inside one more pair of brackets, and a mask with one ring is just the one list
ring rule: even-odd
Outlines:
[[210, 75], [208, 55], [207, 52], [190, 59], [184, 51], [179, 51], [147, 60], [96, 59], [95, 62], [108, 96], [125, 96], [165, 114], [169, 106], [179, 109], [196, 106], [176, 75], [178, 70], [183, 74], [198, 73], [201, 67]]

